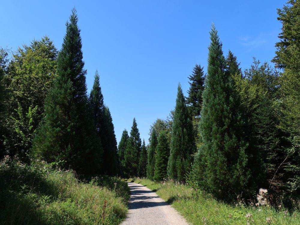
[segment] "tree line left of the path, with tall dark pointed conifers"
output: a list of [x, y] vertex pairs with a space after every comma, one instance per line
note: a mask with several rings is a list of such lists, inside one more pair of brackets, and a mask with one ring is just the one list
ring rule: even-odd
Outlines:
[[117, 175], [117, 142], [100, 77], [87, 93], [75, 8], [61, 50], [48, 37], [1, 49], [0, 153], [55, 162], [83, 177]]

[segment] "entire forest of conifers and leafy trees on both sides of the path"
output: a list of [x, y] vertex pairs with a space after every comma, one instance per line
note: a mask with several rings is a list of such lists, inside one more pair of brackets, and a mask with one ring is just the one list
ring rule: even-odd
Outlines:
[[253, 58], [242, 71], [212, 25], [207, 70], [191, 68], [187, 96], [178, 84], [175, 108], [153, 122], [148, 145], [135, 118], [117, 144], [98, 71], [88, 93], [75, 9], [59, 51], [47, 36], [12, 54], [1, 48], [1, 177], [13, 162], [42, 161], [79, 180], [168, 179], [224, 202], [255, 199], [265, 188], [268, 204], [293, 205], [300, 197], [300, 2], [277, 13], [274, 67]]

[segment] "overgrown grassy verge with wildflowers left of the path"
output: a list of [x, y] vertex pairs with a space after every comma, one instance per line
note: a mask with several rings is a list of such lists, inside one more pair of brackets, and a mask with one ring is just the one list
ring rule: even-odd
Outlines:
[[119, 224], [128, 211], [129, 189], [118, 178], [80, 182], [72, 171], [5, 158], [0, 181], [0, 224]]

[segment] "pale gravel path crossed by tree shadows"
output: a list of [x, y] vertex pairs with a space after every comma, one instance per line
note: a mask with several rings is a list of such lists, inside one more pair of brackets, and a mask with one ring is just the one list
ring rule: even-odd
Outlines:
[[129, 212], [121, 225], [188, 225], [167, 202], [149, 188], [128, 182]]

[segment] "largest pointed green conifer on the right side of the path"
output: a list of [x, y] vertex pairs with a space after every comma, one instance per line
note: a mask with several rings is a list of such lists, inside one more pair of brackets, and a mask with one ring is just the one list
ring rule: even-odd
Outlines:
[[250, 158], [240, 101], [231, 74], [226, 72], [222, 43], [214, 26], [210, 38], [199, 125], [202, 145], [193, 169], [200, 187], [217, 198], [230, 200], [253, 191], [255, 183], [250, 183], [250, 178], [256, 158]]

